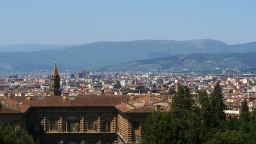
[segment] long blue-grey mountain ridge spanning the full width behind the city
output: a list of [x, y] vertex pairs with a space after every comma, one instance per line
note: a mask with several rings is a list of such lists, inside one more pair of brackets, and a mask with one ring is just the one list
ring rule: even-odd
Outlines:
[[[25, 46], [26, 47], [26, 46]], [[31, 46], [32, 47], [32, 46]], [[223, 41], [202, 40], [135, 40], [100, 41], [72, 47], [51, 47], [28, 52], [0, 52], [0, 72], [53, 69], [79, 70], [106, 67], [122, 62], [191, 53], [254, 52], [255, 43], [228, 45]], [[144, 65], [146, 67], [146, 65]]]

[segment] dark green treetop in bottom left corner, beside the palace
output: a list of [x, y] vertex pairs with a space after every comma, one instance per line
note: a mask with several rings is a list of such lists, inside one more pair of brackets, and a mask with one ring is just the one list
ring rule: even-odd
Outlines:
[[30, 144], [34, 143], [31, 135], [24, 129], [14, 130], [14, 125], [0, 122], [0, 143]]

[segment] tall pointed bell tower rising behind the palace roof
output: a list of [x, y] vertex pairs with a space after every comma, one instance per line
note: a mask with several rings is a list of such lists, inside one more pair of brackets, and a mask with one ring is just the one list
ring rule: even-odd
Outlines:
[[57, 70], [56, 62], [54, 65], [53, 74], [51, 74], [50, 96], [61, 95], [60, 89], [60, 75]]

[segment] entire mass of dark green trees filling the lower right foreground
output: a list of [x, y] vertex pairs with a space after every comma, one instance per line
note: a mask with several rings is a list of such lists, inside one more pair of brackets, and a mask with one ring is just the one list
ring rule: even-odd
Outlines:
[[179, 87], [170, 112], [150, 114], [141, 143], [256, 143], [256, 110], [244, 101], [241, 117], [226, 119], [221, 92], [219, 83], [210, 94], [197, 91], [198, 105], [188, 87]]

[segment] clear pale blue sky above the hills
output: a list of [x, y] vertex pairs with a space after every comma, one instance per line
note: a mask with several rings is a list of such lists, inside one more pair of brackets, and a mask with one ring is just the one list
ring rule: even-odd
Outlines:
[[256, 1], [0, 2], [0, 45], [206, 38], [256, 41]]

